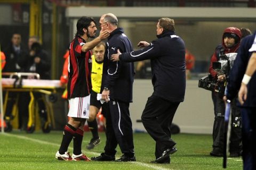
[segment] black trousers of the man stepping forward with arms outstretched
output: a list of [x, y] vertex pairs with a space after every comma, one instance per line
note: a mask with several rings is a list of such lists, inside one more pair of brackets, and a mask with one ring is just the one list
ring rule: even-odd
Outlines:
[[[171, 139], [170, 125], [179, 104], [179, 102], [173, 103], [157, 96], [148, 98], [141, 120], [149, 135], [156, 141], [156, 159], [164, 150], [176, 144]], [[170, 158], [166, 159], [168, 160], [170, 161]]]

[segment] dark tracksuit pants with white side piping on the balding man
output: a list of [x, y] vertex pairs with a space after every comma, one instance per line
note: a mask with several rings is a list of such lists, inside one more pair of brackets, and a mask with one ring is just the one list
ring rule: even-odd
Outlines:
[[117, 144], [123, 154], [134, 157], [132, 121], [129, 112], [130, 103], [111, 99], [106, 116], [105, 154], [114, 156]]

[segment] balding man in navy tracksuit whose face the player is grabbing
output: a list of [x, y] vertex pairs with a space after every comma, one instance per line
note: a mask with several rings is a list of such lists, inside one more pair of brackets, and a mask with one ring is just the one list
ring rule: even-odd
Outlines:
[[[133, 50], [131, 41], [124, 35], [122, 28], [117, 27], [117, 18], [108, 13], [101, 16], [100, 27], [109, 30], [106, 56], [103, 64], [102, 99], [109, 104], [106, 114], [106, 146], [105, 152], [92, 160], [115, 160], [116, 147], [119, 145], [123, 155], [117, 162], [136, 161], [133, 146], [132, 121], [129, 105], [132, 102], [132, 86], [134, 77], [133, 63], [111, 62], [111, 54], [117, 53], [117, 49], [123, 53]], [[107, 67], [106, 67], [107, 66]], [[110, 99], [110, 100], [109, 100]]]

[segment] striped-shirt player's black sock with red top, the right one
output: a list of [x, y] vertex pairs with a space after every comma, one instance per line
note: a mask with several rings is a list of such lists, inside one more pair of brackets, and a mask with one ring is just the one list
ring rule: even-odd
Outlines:
[[77, 128], [73, 138], [73, 145], [74, 145], [73, 154], [75, 155], [82, 154], [83, 137], [84, 137], [84, 131], [82, 129]]

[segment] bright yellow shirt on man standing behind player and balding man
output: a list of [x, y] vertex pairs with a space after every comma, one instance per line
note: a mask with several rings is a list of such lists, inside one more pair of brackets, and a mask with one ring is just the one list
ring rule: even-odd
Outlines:
[[92, 74], [91, 74], [91, 80], [92, 80], [92, 90], [100, 93], [101, 88], [101, 79], [102, 79], [102, 69], [103, 69], [103, 63], [99, 64], [95, 61], [94, 55], [92, 55]]

